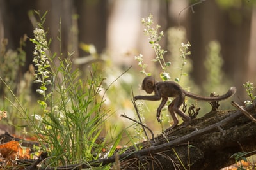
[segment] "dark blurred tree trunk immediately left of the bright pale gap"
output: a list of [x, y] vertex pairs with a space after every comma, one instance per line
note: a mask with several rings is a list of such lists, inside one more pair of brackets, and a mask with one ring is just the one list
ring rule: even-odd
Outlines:
[[[106, 0], [76, 0], [77, 14], [79, 15], [79, 43], [95, 45], [98, 53], [106, 48], [106, 25], [108, 19]], [[79, 56], [86, 54], [79, 50]]]

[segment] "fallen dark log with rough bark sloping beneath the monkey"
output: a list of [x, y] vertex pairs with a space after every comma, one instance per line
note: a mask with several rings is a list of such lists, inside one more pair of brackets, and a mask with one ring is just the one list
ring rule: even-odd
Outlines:
[[[255, 117], [253, 106], [244, 110]], [[234, 153], [256, 150], [255, 131], [255, 122], [241, 110], [211, 111], [202, 118], [192, 120], [189, 127], [166, 129], [164, 134], [141, 143], [141, 150], [130, 147], [118, 155], [118, 165], [120, 169], [220, 169], [235, 162], [230, 159]], [[6, 139], [9, 137], [5, 136]], [[88, 163], [97, 167], [114, 162], [115, 156]], [[81, 163], [44, 169], [86, 167], [89, 166]]]

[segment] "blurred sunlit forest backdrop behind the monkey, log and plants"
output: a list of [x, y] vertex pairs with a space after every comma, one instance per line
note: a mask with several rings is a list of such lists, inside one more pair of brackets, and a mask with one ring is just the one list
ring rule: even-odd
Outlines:
[[[150, 14], [154, 16], [154, 25], [161, 25], [159, 30], [164, 36], [160, 45], [167, 51], [164, 59], [171, 63], [169, 71], [173, 81], [179, 78], [184, 89], [207, 96], [211, 92], [223, 94], [235, 86], [237, 92], [232, 100], [241, 105], [248, 100], [243, 84], [256, 81], [255, 1], [0, 0], [0, 76], [30, 111], [40, 112], [35, 101], [42, 96], [36, 93], [38, 86], [31, 76], [35, 45], [29, 39], [34, 37], [38, 22], [44, 22], [47, 39], [51, 39], [51, 52], [56, 52], [61, 60], [72, 54], [70, 70], [80, 69], [79, 76], [86, 79], [92, 64], [96, 64], [97, 70], [103, 73], [106, 80], [100, 95], [104, 96], [104, 108], [111, 114], [104, 131], [113, 128], [118, 133], [132, 125], [120, 114], [135, 117], [132, 91], [135, 95], [145, 94], [141, 90], [145, 74], [140, 73], [141, 67], [134, 56], [143, 55], [147, 72], [161, 81], [161, 67], [152, 62], [156, 53], [148, 43], [148, 36], [143, 34], [145, 28], [141, 24], [141, 18]], [[40, 16], [45, 20], [40, 20]], [[188, 42], [191, 54], [182, 60], [180, 48]], [[61, 60], [54, 59], [56, 66], [61, 65]], [[1, 120], [1, 130], [19, 135], [29, 132], [23, 128], [26, 122], [15, 115], [17, 111], [10, 101], [6, 102], [6, 97], [13, 102], [12, 95], [2, 82], [0, 89], [0, 109], [10, 113]], [[157, 134], [170, 126], [168, 121], [172, 120], [168, 118], [163, 125], [156, 121], [158, 101], [145, 103], [148, 127]], [[229, 103], [221, 103], [220, 108], [231, 108]], [[207, 111], [208, 108], [202, 108], [202, 113]], [[164, 114], [168, 115], [167, 111]], [[125, 144], [128, 138], [130, 136], [125, 136], [121, 143]]]

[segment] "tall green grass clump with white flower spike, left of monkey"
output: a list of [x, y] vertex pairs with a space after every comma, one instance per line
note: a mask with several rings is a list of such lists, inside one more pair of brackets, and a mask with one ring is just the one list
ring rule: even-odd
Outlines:
[[[34, 30], [33, 62], [37, 103], [41, 113], [27, 115], [33, 132], [49, 152], [47, 164], [60, 166], [97, 159], [104, 140], [99, 140], [107, 117], [103, 109], [102, 74], [92, 66], [90, 75], [82, 80], [79, 70], [72, 69], [72, 53], [61, 59], [51, 55], [49, 42], [42, 27]], [[53, 61], [58, 60], [56, 66]], [[45, 145], [47, 144], [47, 145]]]

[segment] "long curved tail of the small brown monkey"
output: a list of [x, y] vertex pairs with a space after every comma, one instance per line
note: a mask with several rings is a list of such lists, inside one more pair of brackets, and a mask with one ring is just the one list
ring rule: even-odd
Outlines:
[[186, 96], [191, 97], [193, 99], [198, 99], [200, 101], [221, 101], [221, 100], [227, 99], [228, 97], [231, 97], [235, 93], [236, 93], [236, 87], [230, 87], [227, 93], [221, 96], [214, 96], [214, 97], [199, 96], [197, 94], [193, 94], [191, 92], [187, 92], [184, 90], [184, 94], [186, 94]]

